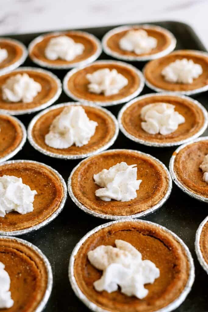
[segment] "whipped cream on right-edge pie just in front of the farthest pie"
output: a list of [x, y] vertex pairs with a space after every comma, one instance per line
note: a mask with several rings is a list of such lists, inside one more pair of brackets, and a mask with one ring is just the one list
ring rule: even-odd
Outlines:
[[169, 82], [190, 84], [193, 79], [198, 78], [203, 70], [201, 65], [186, 58], [170, 63], [162, 70], [164, 79]]

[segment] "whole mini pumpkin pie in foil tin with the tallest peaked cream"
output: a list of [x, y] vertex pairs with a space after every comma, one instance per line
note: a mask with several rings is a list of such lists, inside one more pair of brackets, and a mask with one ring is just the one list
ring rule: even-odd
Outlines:
[[[64, 123], [65, 129], [58, 127]], [[54, 105], [36, 115], [28, 127], [28, 139], [35, 149], [65, 159], [85, 158], [108, 149], [118, 133], [113, 114], [84, 102]]]

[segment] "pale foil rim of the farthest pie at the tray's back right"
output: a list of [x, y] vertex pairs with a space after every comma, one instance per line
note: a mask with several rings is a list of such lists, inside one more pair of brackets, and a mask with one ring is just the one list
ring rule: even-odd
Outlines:
[[[164, 49], [160, 52], [150, 54], [150, 55], [143, 55], [143, 56], [122, 55], [118, 52], [112, 51], [109, 48], [109, 46], [107, 45], [107, 41], [110, 37], [112, 37], [116, 33], [119, 33], [119, 32], [125, 31], [125, 30], [132, 30], [135, 27], [142, 27], [144, 29], [152, 29], [152, 30], [156, 30], [156, 31], [160, 31], [160, 32], [165, 33], [168, 36], [168, 38], [170, 39], [169, 46], [167, 46], [166, 49]], [[167, 30], [166, 28], [163, 28], [161, 26], [156, 26], [156, 25], [151, 25], [151, 24], [126, 25], [126, 26], [119, 26], [119, 27], [113, 28], [109, 32], [107, 32], [102, 39], [102, 45], [103, 45], [103, 51], [106, 54], [113, 56], [117, 59], [120, 59], [123, 61], [149, 61], [149, 60], [154, 60], [154, 59], [160, 58], [160, 57], [165, 56], [165, 55], [169, 54], [170, 52], [172, 52], [176, 47], [176, 38], [172, 34], [172, 32], [170, 32], [169, 30]]]

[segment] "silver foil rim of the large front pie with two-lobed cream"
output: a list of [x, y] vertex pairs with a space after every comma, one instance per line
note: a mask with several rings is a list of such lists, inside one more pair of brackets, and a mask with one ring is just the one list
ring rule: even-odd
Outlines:
[[94, 312], [107, 312], [107, 310], [102, 309], [101, 307], [99, 307], [98, 305], [96, 305], [95, 303], [93, 303], [92, 301], [90, 301], [84, 294], [83, 292], [80, 290], [76, 279], [75, 279], [75, 275], [74, 275], [74, 261], [75, 261], [75, 256], [77, 254], [77, 252], [79, 251], [80, 247], [82, 246], [82, 244], [87, 240], [87, 238], [91, 235], [93, 235], [94, 233], [98, 232], [99, 230], [108, 227], [112, 224], [116, 224], [116, 223], [121, 223], [121, 222], [126, 222], [126, 221], [130, 221], [130, 222], [141, 222], [141, 223], [147, 223], [147, 224], [151, 224], [153, 226], [156, 226], [158, 228], [161, 228], [162, 230], [164, 230], [165, 232], [171, 234], [175, 240], [177, 240], [179, 242], [179, 244], [183, 247], [183, 249], [186, 252], [186, 256], [189, 262], [189, 278], [187, 280], [187, 283], [184, 287], [184, 289], [182, 290], [181, 294], [177, 297], [177, 299], [175, 299], [173, 302], [171, 302], [169, 305], [167, 305], [166, 307], [159, 309], [159, 310], [155, 310], [155, 312], [170, 312], [172, 310], [175, 310], [179, 305], [181, 305], [181, 303], [186, 299], [186, 296], [188, 295], [188, 293], [191, 290], [191, 287], [193, 285], [194, 279], [195, 279], [195, 268], [194, 268], [194, 262], [193, 262], [193, 258], [191, 256], [191, 252], [189, 251], [188, 247], [186, 246], [186, 244], [182, 241], [182, 239], [177, 236], [174, 232], [168, 230], [166, 227], [163, 227], [157, 223], [154, 222], [150, 222], [150, 221], [145, 221], [145, 220], [136, 220], [136, 219], [126, 219], [123, 218], [121, 220], [116, 220], [113, 222], [108, 222], [108, 223], [104, 223], [102, 225], [99, 225], [98, 227], [95, 227], [93, 230], [89, 231], [87, 234], [85, 234], [85, 236], [83, 236], [81, 238], [81, 240], [76, 244], [75, 248], [73, 249], [71, 256], [70, 256], [70, 261], [69, 261], [69, 280], [70, 280], [70, 284], [72, 289], [75, 292], [75, 295], [92, 311]]

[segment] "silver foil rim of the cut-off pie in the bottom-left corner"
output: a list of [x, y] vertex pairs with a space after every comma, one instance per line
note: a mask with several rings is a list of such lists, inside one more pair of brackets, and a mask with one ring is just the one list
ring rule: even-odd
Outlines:
[[50, 264], [48, 258], [45, 256], [45, 254], [37, 246], [35, 246], [31, 242], [26, 241], [22, 238], [17, 238], [14, 236], [0, 236], [0, 239], [6, 239], [6, 240], [11, 239], [11, 240], [20, 242], [21, 244], [33, 249], [39, 256], [41, 256], [41, 258], [44, 262], [44, 265], [46, 266], [48, 281], [47, 281], [47, 288], [46, 288], [45, 294], [44, 294], [41, 302], [39, 303], [39, 305], [34, 310], [34, 312], [43, 311], [43, 309], [46, 307], [46, 304], [50, 298], [52, 287], [53, 287], [53, 274], [52, 274], [51, 264]]

